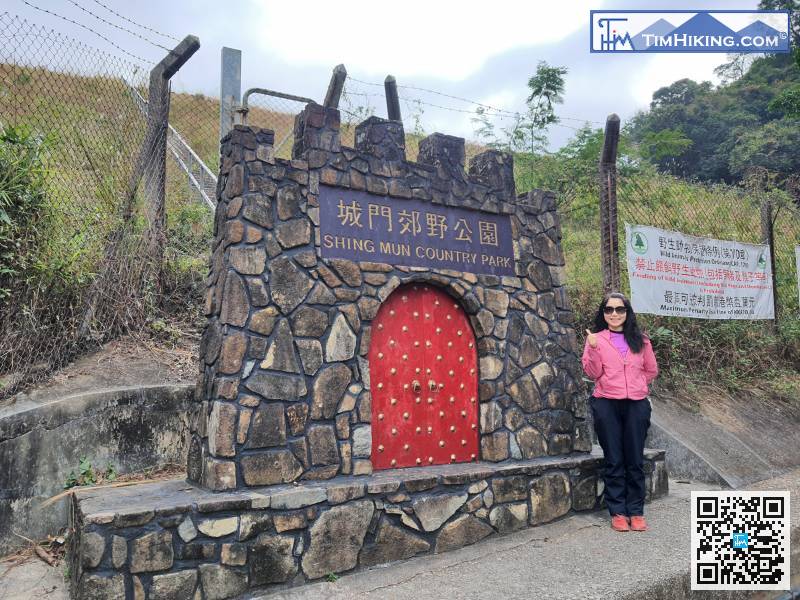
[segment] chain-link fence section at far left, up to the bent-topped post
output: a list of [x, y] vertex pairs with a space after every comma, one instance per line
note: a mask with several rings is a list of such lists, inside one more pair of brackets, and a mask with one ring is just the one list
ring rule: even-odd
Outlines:
[[140, 320], [143, 219], [131, 181], [146, 118], [131, 87], [145, 71], [7, 13], [0, 69], [0, 376], [10, 393], [102, 338], [95, 323], [118, 331]]

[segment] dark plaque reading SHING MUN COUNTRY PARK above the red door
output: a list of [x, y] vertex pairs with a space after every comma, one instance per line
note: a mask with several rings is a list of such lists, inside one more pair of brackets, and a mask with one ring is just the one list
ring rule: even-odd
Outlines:
[[515, 275], [508, 215], [326, 185], [319, 205], [324, 258]]

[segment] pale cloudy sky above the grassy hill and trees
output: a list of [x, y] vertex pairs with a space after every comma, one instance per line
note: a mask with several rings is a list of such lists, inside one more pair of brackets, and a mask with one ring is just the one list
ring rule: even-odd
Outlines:
[[[163, 49], [97, 17], [167, 47], [176, 42], [121, 17], [178, 39], [196, 35], [200, 50], [173, 78], [178, 91], [218, 96], [220, 51], [227, 46], [242, 51], [243, 90], [265, 87], [322, 102], [332, 69], [341, 63], [354, 78], [349, 101], [369, 102], [385, 117], [384, 101], [376, 96], [382, 86], [369, 84], [382, 84], [391, 74], [400, 86], [407, 130], [416, 116], [425, 133], [468, 139], [475, 137], [476, 105], [456, 98], [523, 110], [527, 80], [539, 61], [546, 61], [568, 69], [564, 103], [557, 108], [561, 121], [550, 131], [550, 148], [556, 149], [584, 123], [602, 127], [611, 113], [624, 124], [648, 107], [654, 91], [678, 79], [717, 83], [714, 67], [726, 59], [724, 54], [592, 54], [590, 10], [755, 8], [755, 0], [3, 0], [2, 10], [125, 57], [100, 34], [154, 62]], [[498, 128], [507, 123], [496, 122]]]

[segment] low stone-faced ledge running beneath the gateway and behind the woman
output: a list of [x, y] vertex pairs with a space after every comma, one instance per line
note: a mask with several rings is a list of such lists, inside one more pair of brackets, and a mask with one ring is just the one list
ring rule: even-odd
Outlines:
[[[667, 493], [645, 454], [648, 499]], [[213, 493], [183, 481], [74, 499], [73, 597], [231, 598], [442, 553], [600, 506], [603, 458], [397, 469], [308, 485]]]

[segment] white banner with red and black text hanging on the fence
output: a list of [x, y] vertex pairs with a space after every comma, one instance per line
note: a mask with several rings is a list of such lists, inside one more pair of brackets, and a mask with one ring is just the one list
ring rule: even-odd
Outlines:
[[626, 223], [625, 249], [631, 304], [637, 312], [696, 319], [775, 318], [769, 246]]

